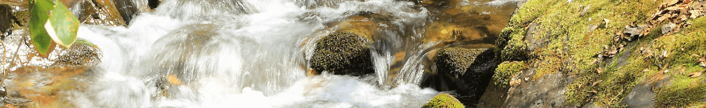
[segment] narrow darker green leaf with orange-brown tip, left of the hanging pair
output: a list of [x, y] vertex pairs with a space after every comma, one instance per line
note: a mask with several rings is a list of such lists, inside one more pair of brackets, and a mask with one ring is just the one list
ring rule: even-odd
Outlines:
[[[54, 3], [49, 0], [35, 0], [30, 8], [30, 38], [37, 52], [42, 56], [52, 52], [52, 38], [49, 37], [44, 23], [49, 18], [49, 10], [54, 9]], [[50, 49], [52, 48], [52, 49]]]

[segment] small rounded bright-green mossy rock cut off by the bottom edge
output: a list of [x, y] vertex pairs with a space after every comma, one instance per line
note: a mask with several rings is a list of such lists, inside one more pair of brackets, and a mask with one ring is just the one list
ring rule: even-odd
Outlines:
[[446, 93], [441, 93], [439, 95], [436, 95], [433, 99], [429, 100], [424, 106], [421, 106], [421, 108], [463, 108], [463, 104], [456, 100], [451, 95], [448, 95]]

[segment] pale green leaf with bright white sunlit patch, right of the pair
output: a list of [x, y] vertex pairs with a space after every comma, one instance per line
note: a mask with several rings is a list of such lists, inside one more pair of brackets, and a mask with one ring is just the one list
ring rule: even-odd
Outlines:
[[56, 44], [68, 48], [71, 47], [73, 42], [76, 42], [78, 25], [76, 16], [73, 16], [73, 13], [68, 11], [68, 8], [61, 1], [56, 1], [56, 6], [54, 6], [54, 10], [52, 10], [52, 14], [49, 16], [44, 28], [47, 29], [49, 37], [52, 37]]

